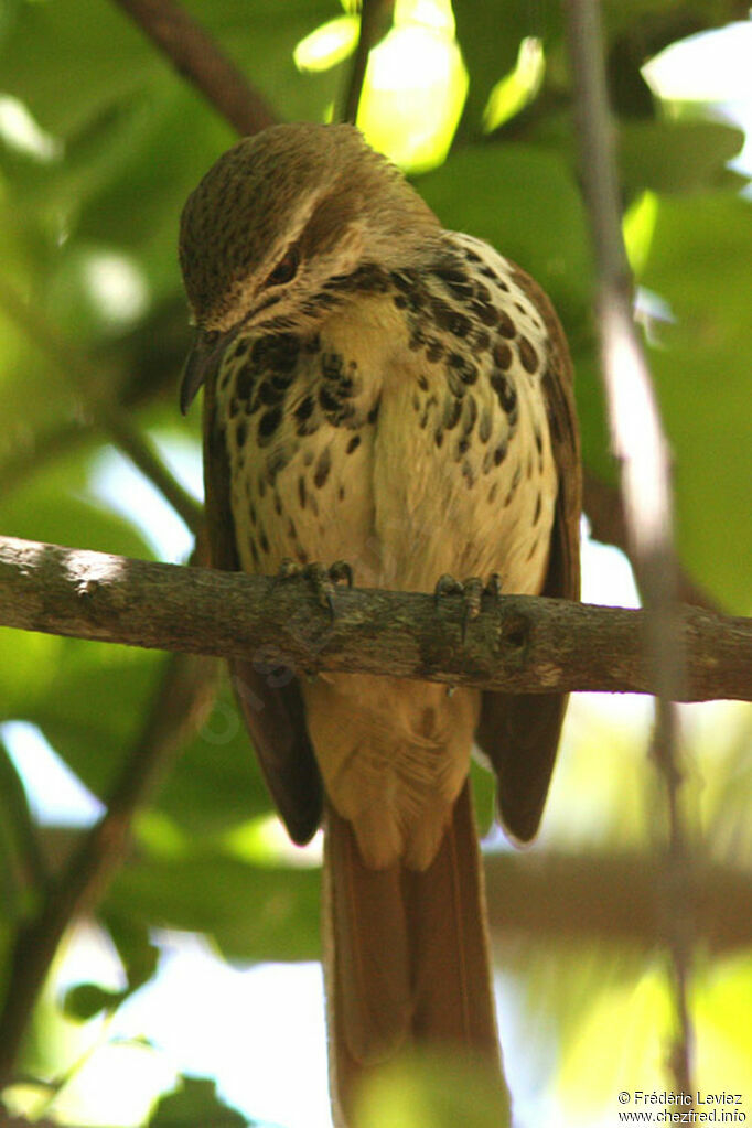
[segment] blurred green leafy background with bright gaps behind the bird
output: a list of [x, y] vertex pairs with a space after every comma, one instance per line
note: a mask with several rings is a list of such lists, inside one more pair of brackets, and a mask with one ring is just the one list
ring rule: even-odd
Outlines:
[[[186, 8], [281, 117], [336, 115], [357, 35], [352, 5], [193, 0]], [[642, 69], [671, 44], [746, 16], [735, 0], [604, 3], [625, 231], [674, 453], [682, 563], [718, 605], [749, 615], [752, 217], [745, 178], [729, 169], [743, 134], [723, 106], [700, 100], [700, 73], [698, 97], [661, 98]], [[189, 342], [176, 227], [185, 196], [233, 134], [105, 0], [0, 0], [0, 528], [185, 559], [188, 531], [118, 452], [101, 405], [200, 493], [198, 413], [184, 421], [176, 409]], [[587, 466], [614, 481], [569, 100], [557, 3], [402, 0], [372, 55], [360, 123], [415, 176], [448, 227], [489, 239], [549, 291], [575, 358]], [[6, 287], [33, 310], [30, 325]], [[591, 590], [604, 601], [627, 598], [623, 563], [595, 548], [586, 558]], [[82, 832], [39, 812], [43, 773], [24, 770], [24, 741], [41, 735], [106, 804], [143, 739], [165, 668], [163, 656], [147, 652], [0, 632], [0, 997], [19, 929], [44, 906], [51, 875], [65, 874]], [[746, 875], [749, 711], [684, 713], [693, 848]], [[574, 703], [537, 848], [543, 869], [560, 856], [603, 867], [625, 852], [651, 856], [662, 812], [643, 766], [645, 724], [632, 699], [612, 708]], [[166, 937], [204, 934], [218, 955], [242, 966], [318, 954], [316, 848], [301, 862], [275, 829], [224, 686], [179, 746], [139, 808], [133, 849], [92, 907], [86, 937], [69, 933], [52, 967], [18, 1063], [26, 1082], [6, 1094], [16, 1112], [113, 1125], [150, 1116], [153, 1125], [235, 1123], [258, 1113], [253, 1099], [242, 1118], [233, 1113], [212, 1079], [182, 1079], [180, 1063], [165, 1066], [167, 1051], [145, 1025], [138, 1038], [117, 1033], [123, 1006], [145, 997], [163, 969]], [[103, 964], [94, 953], [105, 940]], [[73, 975], [71, 987], [64, 953], [77, 944], [89, 960], [76, 964], [80, 981]], [[589, 934], [512, 922], [497, 955], [520, 1123], [525, 1114], [531, 1123], [616, 1122], [619, 1090], [670, 1084], [674, 1019], [660, 948], [611, 935], [608, 922]], [[749, 940], [731, 951], [700, 945], [696, 955], [697, 1076], [706, 1089], [737, 1092], [752, 1076]], [[191, 982], [185, 992], [189, 998]], [[284, 1006], [294, 1022], [294, 1002]], [[201, 1024], [198, 1013], [186, 1014]], [[320, 1037], [319, 1024], [311, 1046]], [[141, 1078], [140, 1113], [123, 1112], [122, 1092], [104, 1103], [92, 1096], [83, 1066], [105, 1050], [122, 1055], [121, 1086]], [[316, 1052], [320, 1061], [320, 1046]], [[147, 1058], [161, 1072], [144, 1073]], [[175, 1084], [176, 1095], [153, 1103]], [[745, 1100], [749, 1116], [752, 1092]], [[295, 1122], [326, 1119], [309, 1108]]]

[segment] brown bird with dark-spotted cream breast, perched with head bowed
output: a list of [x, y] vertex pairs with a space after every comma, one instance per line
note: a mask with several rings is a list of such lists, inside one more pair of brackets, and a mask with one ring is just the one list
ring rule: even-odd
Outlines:
[[[469, 629], [485, 590], [580, 597], [557, 315], [515, 263], [445, 230], [355, 126], [273, 125], [224, 152], [185, 204], [179, 261], [212, 566], [324, 584], [344, 561], [364, 587], [440, 607], [459, 590]], [[324, 826], [335, 1123], [415, 1049], [501, 1077], [470, 758], [528, 843], [566, 697], [362, 673], [280, 685], [253, 655], [230, 664], [291, 838]]]

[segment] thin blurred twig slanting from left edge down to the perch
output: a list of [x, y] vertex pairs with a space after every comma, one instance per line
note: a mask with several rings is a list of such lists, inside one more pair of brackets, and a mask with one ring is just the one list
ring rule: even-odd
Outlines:
[[46, 353], [61, 372], [74, 382], [86, 407], [98, 424], [159, 490], [191, 531], [198, 535], [204, 523], [201, 505], [183, 488], [154, 452], [151, 443], [132, 425], [123, 411], [106, 398], [100, 390], [101, 378], [97, 368], [63, 340], [2, 279], [0, 279], [0, 306], [32, 343]]

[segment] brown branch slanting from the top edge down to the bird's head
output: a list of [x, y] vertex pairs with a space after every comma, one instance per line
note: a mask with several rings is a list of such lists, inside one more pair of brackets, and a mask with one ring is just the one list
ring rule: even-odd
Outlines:
[[172, 0], [114, 0], [241, 136], [277, 120], [216, 41]]

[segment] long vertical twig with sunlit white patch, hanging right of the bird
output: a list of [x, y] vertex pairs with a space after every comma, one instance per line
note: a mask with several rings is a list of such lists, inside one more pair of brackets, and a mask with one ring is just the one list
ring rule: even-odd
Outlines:
[[676, 1089], [692, 1092], [688, 981], [692, 959], [691, 852], [682, 810], [678, 714], [685, 677], [673, 547], [669, 446], [639, 337], [621, 233], [618, 176], [598, 0], [565, 0], [575, 85], [577, 139], [596, 261], [602, 372], [613, 450], [620, 462], [628, 541], [646, 609], [646, 653], [656, 685], [653, 755], [664, 784], [666, 920], [678, 1037], [671, 1052]]

